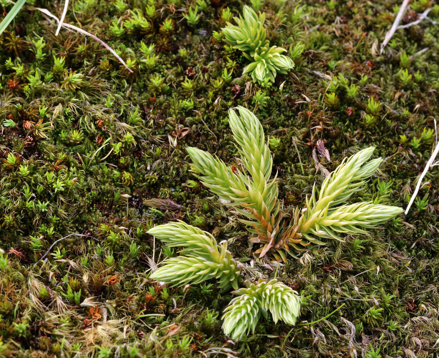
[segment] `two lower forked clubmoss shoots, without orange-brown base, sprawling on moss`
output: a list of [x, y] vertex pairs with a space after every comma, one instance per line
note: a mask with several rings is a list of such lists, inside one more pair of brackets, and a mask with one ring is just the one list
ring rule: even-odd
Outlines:
[[238, 290], [242, 281], [241, 268], [227, 251], [227, 243], [220, 245], [209, 233], [182, 221], [155, 226], [148, 233], [160, 238], [168, 248], [181, 247], [180, 256], [168, 258], [164, 265], [152, 273], [151, 278], [173, 286], [198, 284], [207, 279], [218, 279], [223, 290], [234, 288], [238, 295], [224, 309], [224, 333], [239, 340], [254, 332], [260, 315], [267, 318], [270, 311], [274, 323], [279, 320], [295, 325], [300, 314], [301, 298], [296, 291], [277, 282], [259, 279], [255, 285], [246, 282], [246, 288]]

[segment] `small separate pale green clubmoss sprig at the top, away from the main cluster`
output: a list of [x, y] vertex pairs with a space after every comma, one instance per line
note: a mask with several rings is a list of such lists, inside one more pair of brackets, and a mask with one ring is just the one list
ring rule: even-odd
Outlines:
[[243, 74], [250, 73], [253, 81], [265, 82], [269, 79], [274, 82], [277, 73], [286, 74], [294, 67], [291, 58], [283, 55], [284, 48], [272, 46], [266, 39], [264, 29], [265, 13], [257, 15], [255, 11], [245, 5], [243, 16], [234, 17], [236, 25], [226, 22], [222, 28], [224, 41], [233, 48], [241, 50], [242, 54], [252, 61], [243, 71]]

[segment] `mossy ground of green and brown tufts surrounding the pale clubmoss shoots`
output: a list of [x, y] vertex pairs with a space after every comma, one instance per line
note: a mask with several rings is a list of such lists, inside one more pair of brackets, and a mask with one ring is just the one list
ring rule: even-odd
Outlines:
[[[4, 16], [11, 5], [1, 5]], [[241, 105], [270, 135], [285, 211], [371, 145], [387, 159], [352, 200], [405, 208], [435, 143], [437, 5], [412, 1], [402, 23], [432, 7], [429, 19], [398, 30], [380, 55], [399, 2], [255, 1], [270, 43], [292, 45], [295, 57], [264, 86], [212, 36], [241, 2], [72, 1], [65, 22], [104, 40], [132, 72], [90, 37], [55, 36], [55, 21], [35, 9], [59, 17], [64, 4], [28, 5], [0, 36], [1, 356], [437, 354], [438, 166], [407, 216], [276, 265], [252, 257], [245, 226], [194, 180], [185, 150], [238, 166], [227, 110]], [[148, 278], [175, 252], [146, 231], [175, 219], [227, 240], [255, 268], [247, 279], [276, 276], [299, 291], [301, 322], [344, 306], [307, 326], [263, 320], [229, 341], [220, 317], [230, 294]]]

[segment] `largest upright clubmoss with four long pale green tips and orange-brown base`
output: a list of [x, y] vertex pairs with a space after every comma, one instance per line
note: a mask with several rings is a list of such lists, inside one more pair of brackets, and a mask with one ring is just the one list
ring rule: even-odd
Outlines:
[[[366, 179], [381, 165], [382, 158], [369, 160], [374, 147], [343, 160], [324, 180], [318, 195], [314, 185], [301, 211], [299, 208], [292, 213], [281, 211], [276, 176], [270, 178], [273, 159], [262, 125], [251, 111], [238, 109], [239, 116], [233, 109], [229, 110], [229, 123], [246, 172], [232, 170], [219, 158], [197, 148], [189, 147], [187, 153], [197, 178], [247, 218], [241, 221], [256, 234], [250, 241], [262, 244], [255, 251], [259, 257], [271, 251], [275, 258], [286, 261], [284, 251], [290, 252], [291, 248], [302, 251], [310, 243], [325, 244], [322, 239], [343, 240], [342, 234], [367, 234], [366, 229], [403, 211], [371, 202], [345, 204], [353, 193], [363, 189]], [[283, 220], [287, 214], [293, 216], [289, 223]]]

